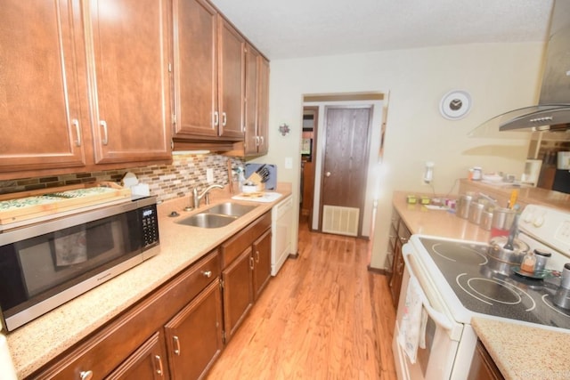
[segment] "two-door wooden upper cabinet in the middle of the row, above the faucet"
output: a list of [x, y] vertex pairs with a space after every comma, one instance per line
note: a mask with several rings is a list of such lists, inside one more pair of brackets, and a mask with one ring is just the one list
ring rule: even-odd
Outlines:
[[243, 138], [245, 39], [205, 0], [175, 0], [176, 140]]

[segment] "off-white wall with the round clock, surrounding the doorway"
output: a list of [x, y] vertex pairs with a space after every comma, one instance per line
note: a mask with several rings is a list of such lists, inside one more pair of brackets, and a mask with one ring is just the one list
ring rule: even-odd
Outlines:
[[[293, 183], [298, 213], [303, 95], [390, 92], [371, 258], [372, 267], [383, 268], [392, 193], [431, 191], [421, 181], [425, 161], [435, 162], [438, 193], [457, 190], [456, 179], [470, 166], [522, 173], [527, 139], [472, 138], [468, 132], [535, 103], [542, 53], [543, 44], [468, 44], [272, 61], [269, 154], [257, 160], [276, 164], [279, 181]], [[439, 101], [452, 89], [468, 91], [473, 100], [461, 120], [439, 114]], [[287, 136], [278, 132], [281, 123], [291, 128]], [[287, 157], [293, 158], [292, 169], [285, 169]]]

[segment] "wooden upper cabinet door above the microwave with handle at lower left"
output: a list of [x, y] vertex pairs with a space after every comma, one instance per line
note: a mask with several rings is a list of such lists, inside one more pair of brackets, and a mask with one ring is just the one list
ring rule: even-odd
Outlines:
[[92, 0], [85, 24], [95, 162], [171, 158], [171, 0]]

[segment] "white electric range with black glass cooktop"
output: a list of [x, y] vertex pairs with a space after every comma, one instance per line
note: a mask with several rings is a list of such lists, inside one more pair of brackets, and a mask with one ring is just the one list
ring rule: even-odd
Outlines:
[[[516, 266], [505, 269], [487, 255], [484, 243], [412, 235], [403, 246], [405, 271], [393, 342], [398, 378], [467, 378], [476, 347], [470, 321], [477, 315], [570, 331], [570, 310], [555, 303], [570, 296], [559, 287], [560, 271], [570, 263], [570, 213], [529, 205], [519, 230], [518, 239], [530, 249], [552, 254], [541, 276], [526, 276]], [[410, 336], [404, 319], [413, 319], [413, 295], [420, 300], [421, 314], [416, 318], [419, 331]], [[406, 331], [402, 336], [401, 330]], [[409, 355], [404, 347], [410, 348], [416, 336], [418, 347], [412, 346]]]

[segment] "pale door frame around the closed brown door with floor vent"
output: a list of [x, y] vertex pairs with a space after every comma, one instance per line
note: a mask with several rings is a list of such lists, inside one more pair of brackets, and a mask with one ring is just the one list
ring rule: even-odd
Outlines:
[[[364, 169], [364, 172], [366, 174], [368, 174], [368, 166], [370, 163], [370, 155], [371, 155], [371, 132], [372, 132], [372, 120], [374, 118], [374, 106], [372, 104], [354, 104], [354, 105], [347, 105], [347, 104], [338, 104], [338, 105], [325, 105], [324, 106], [324, 117], [323, 117], [323, 121], [322, 121], [322, 136], [321, 136], [321, 150], [317, 151], [316, 154], [319, 156], [319, 160], [321, 161], [321, 170], [318, 171], [319, 174], [319, 181], [321, 182], [320, 186], [319, 186], [319, 191], [320, 191], [320, 196], [319, 196], [319, 230], [322, 231], [322, 209], [323, 209], [323, 203], [322, 203], [322, 193], [324, 191], [324, 174], [323, 174], [323, 165], [324, 165], [324, 160], [325, 160], [325, 156], [326, 156], [326, 144], [327, 144], [327, 121], [328, 121], [328, 117], [327, 117], [327, 111], [329, 109], [369, 109], [370, 110], [370, 116], [368, 119], [368, 129], [366, 131], [366, 167]], [[315, 170], [315, 182], [316, 182], [316, 173], [317, 171]], [[360, 209], [359, 215], [358, 215], [358, 237], [362, 237], [362, 221], [363, 221], [363, 217], [364, 217], [364, 207], [366, 205], [366, 184], [368, 182], [368, 175], [366, 175], [366, 178], [363, 180], [363, 188], [364, 188], [364, 194], [362, 194], [362, 199], [360, 202], [360, 205], [358, 206], [358, 208]]]

